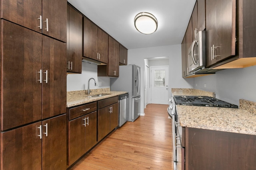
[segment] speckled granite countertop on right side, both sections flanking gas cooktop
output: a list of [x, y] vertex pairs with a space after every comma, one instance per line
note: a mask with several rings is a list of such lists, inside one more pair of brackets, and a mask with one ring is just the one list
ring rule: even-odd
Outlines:
[[[192, 88], [172, 88], [173, 96], [210, 96]], [[176, 105], [180, 125], [199, 129], [256, 135], [256, 102], [240, 99], [239, 109]]]

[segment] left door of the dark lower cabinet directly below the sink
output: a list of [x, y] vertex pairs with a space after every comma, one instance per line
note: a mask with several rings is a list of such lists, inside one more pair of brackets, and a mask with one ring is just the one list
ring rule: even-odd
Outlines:
[[110, 132], [110, 106], [98, 109], [98, 141]]

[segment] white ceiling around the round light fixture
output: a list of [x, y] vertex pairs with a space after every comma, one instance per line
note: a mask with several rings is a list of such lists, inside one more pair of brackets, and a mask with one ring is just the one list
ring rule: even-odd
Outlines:
[[[127, 49], [181, 44], [196, 0], [68, 0]], [[134, 17], [149, 12], [158, 20], [156, 32], [145, 35]]]

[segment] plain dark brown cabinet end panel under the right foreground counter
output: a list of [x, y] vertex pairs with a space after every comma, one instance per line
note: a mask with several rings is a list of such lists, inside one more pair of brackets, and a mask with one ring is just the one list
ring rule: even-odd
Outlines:
[[186, 127], [186, 170], [255, 170], [256, 135]]

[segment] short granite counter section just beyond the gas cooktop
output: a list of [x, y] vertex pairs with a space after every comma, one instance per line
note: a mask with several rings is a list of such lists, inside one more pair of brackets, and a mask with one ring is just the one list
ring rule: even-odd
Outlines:
[[193, 88], [172, 88], [173, 96], [210, 96], [215, 98], [214, 92], [207, 92]]

